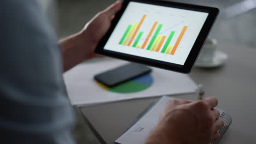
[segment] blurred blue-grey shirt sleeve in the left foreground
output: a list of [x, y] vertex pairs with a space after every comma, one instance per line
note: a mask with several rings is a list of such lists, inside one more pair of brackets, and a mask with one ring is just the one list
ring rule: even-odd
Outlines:
[[35, 0], [0, 6], [1, 142], [72, 144], [74, 114], [53, 30]]

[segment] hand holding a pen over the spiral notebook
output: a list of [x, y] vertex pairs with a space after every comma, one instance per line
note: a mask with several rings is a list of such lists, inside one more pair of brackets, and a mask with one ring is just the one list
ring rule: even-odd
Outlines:
[[214, 97], [169, 101], [146, 143], [208, 144], [220, 139], [224, 123], [214, 109], [217, 104]]

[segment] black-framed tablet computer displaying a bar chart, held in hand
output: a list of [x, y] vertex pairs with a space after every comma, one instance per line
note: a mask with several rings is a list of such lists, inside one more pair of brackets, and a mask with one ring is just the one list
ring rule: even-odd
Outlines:
[[189, 73], [218, 11], [177, 2], [125, 0], [95, 52]]

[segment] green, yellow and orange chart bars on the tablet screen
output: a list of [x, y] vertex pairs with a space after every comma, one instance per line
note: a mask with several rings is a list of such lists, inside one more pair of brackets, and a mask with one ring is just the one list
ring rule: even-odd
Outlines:
[[[119, 44], [174, 55], [185, 32], [187, 31], [188, 26], [183, 26], [178, 39], [176, 41], [172, 41], [174, 34], [177, 34], [176, 31], [171, 31], [170, 35], [162, 35], [160, 31], [163, 25], [159, 24], [158, 21], [155, 21], [147, 32], [139, 32], [139, 28], [141, 28], [146, 17], [147, 15], [143, 15], [139, 22], [135, 22], [133, 25], [127, 26]], [[148, 35], [143, 38], [142, 35], [147, 33]], [[166, 33], [166, 31], [164, 31], [164, 33]], [[142, 43], [138, 44], [139, 41], [142, 41]], [[173, 44], [171, 44], [171, 41]]]

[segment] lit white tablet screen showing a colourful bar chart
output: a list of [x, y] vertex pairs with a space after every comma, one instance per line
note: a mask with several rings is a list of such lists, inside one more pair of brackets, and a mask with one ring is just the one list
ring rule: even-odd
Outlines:
[[184, 65], [208, 13], [130, 2], [104, 50]]

